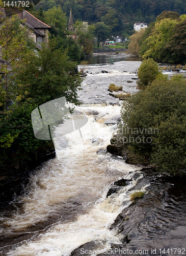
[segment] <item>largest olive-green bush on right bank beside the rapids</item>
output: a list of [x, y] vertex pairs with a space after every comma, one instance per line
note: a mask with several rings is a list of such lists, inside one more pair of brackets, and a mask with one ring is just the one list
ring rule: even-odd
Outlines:
[[128, 155], [161, 172], [182, 175], [186, 169], [186, 80], [160, 76], [124, 101], [119, 128]]

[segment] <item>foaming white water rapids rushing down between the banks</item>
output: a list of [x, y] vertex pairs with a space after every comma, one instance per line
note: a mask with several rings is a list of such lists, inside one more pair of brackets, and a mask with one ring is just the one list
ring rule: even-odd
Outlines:
[[[57, 157], [37, 169], [25, 193], [14, 202], [20, 206], [11, 217], [2, 217], [1, 234], [6, 237], [30, 234], [29, 239], [7, 246], [6, 255], [69, 256], [72, 250], [92, 240], [102, 243], [102, 251], [109, 249], [111, 242], [119, 243], [121, 238], [110, 226], [129, 205], [128, 190], [136, 181], [124, 186], [117, 196], [106, 198], [106, 195], [114, 181], [130, 179], [132, 173], [129, 172], [140, 168], [126, 164], [120, 157], [96, 152], [110, 144], [117, 126], [105, 122], [120, 115], [119, 100], [108, 95], [109, 84], [114, 82], [117, 86], [123, 85], [126, 92], [136, 92], [136, 82], [131, 77], [136, 77], [139, 65], [140, 61], [121, 61], [104, 67], [86, 67], [89, 74], [79, 97], [84, 103], [99, 104], [76, 107], [76, 111], [89, 119], [81, 128], [83, 140], [78, 131], [61, 137], [59, 128]], [[102, 70], [110, 73], [101, 73]], [[97, 111], [98, 115], [90, 115], [91, 111]], [[37, 229], [40, 223], [54, 219], [41, 230]], [[35, 231], [31, 229], [33, 226]]]

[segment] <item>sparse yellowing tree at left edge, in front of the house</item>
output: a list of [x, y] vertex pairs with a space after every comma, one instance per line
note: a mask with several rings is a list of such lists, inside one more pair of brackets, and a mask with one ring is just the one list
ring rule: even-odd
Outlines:
[[14, 79], [26, 65], [25, 56], [29, 54], [29, 48], [33, 49], [34, 44], [29, 35], [30, 31], [24, 26], [24, 21], [20, 21], [17, 15], [2, 20], [0, 56], [3, 61], [0, 65], [0, 106], [3, 107], [4, 112], [23, 97], [20, 94], [19, 86], [15, 86]]

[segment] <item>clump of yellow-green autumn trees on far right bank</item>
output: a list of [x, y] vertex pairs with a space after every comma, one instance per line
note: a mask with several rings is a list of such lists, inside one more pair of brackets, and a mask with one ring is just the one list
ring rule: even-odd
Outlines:
[[164, 11], [145, 31], [130, 37], [128, 52], [161, 62], [186, 62], [186, 15]]

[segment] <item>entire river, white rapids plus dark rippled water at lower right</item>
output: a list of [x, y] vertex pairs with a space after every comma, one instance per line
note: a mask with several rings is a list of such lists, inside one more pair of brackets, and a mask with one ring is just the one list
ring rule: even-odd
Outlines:
[[[136, 71], [141, 63], [123, 60], [123, 55], [116, 62], [115, 55], [107, 58], [112, 62], [84, 67], [87, 76], [78, 93], [82, 105], [75, 108], [76, 114], [88, 117], [81, 128], [83, 138], [78, 131], [60, 136], [59, 127], [56, 158], [39, 166], [22, 195], [1, 209], [0, 255], [82, 255], [82, 245], [99, 248], [99, 253], [113, 245], [132, 250], [143, 244], [155, 248], [164, 245], [160, 244], [163, 237], [168, 240], [164, 246], [170, 246], [174, 237], [172, 246], [186, 247], [182, 238], [186, 234], [185, 179], [166, 180], [105, 151], [116, 132], [121, 105], [109, 95], [108, 87], [115, 83], [125, 92], [136, 93]], [[120, 179], [128, 182], [107, 197]], [[177, 194], [173, 180], [175, 189], [179, 188]], [[144, 191], [145, 197], [133, 205], [130, 194], [135, 190]], [[129, 222], [123, 229], [125, 219]]]

